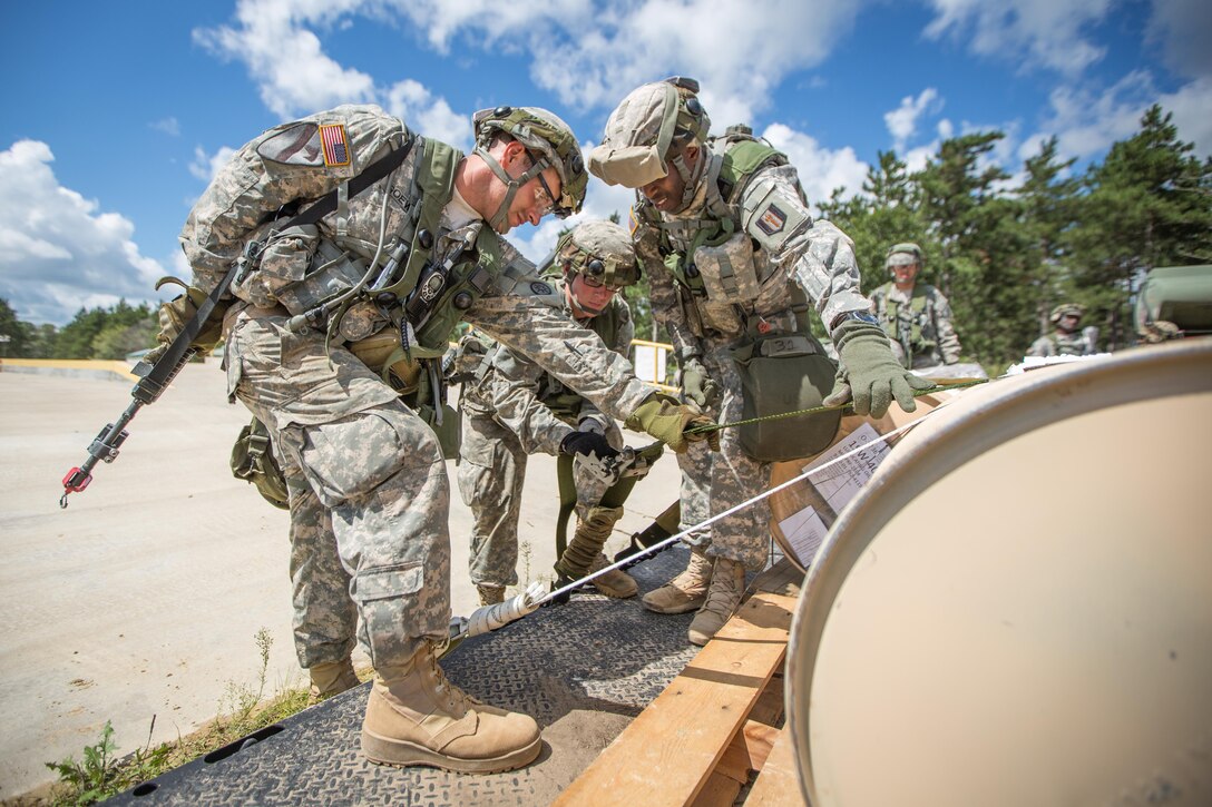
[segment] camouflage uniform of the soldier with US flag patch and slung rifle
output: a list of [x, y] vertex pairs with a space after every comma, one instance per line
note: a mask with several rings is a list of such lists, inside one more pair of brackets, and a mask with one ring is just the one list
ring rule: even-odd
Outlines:
[[[267, 211], [322, 196], [410, 141], [408, 156], [384, 179], [318, 225], [273, 239], [257, 271], [233, 287], [238, 302], [224, 320], [229, 396], [269, 428], [291, 493], [295, 637], [304, 668], [345, 658], [355, 625], [376, 668], [407, 663], [448, 630], [450, 487], [438, 439], [350, 350], [385, 322], [373, 304], [359, 303], [327, 345], [321, 332], [286, 327], [298, 313], [290, 309], [314, 291], [307, 281], [333, 254], [370, 261], [382, 234], [384, 250], [395, 247], [418, 204], [415, 170], [425, 141], [368, 105], [285, 124], [231, 158], [181, 236], [198, 284], [213, 284], [246, 240], [265, 235]], [[491, 258], [485, 250], [499, 253], [491, 285], [463, 311], [467, 321], [612, 417], [627, 418], [652, 394], [596, 334], [541, 299], [550, 287], [456, 194], [442, 210], [433, 258], [452, 257], [464, 237], [478, 239], [481, 265]]]

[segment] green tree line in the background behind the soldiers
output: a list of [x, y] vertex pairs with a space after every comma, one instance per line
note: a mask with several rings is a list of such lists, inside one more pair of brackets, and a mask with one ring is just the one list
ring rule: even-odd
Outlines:
[[[1196, 158], [1156, 105], [1134, 136], [1080, 173], [1074, 160], [1059, 159], [1052, 138], [1011, 176], [989, 156], [1004, 137], [944, 141], [913, 172], [894, 151], [881, 151], [861, 193], [839, 188], [816, 207], [854, 240], [867, 292], [887, 282], [891, 245], [922, 247], [920, 282], [950, 301], [965, 361], [1001, 372], [1067, 302], [1086, 309], [1082, 325], [1099, 328], [1100, 349], [1133, 344], [1131, 307], [1144, 273], [1212, 263], [1212, 158]], [[653, 327], [647, 277], [627, 297], [636, 336], [668, 340]], [[0, 349], [8, 356], [120, 359], [153, 347], [156, 331], [145, 304], [80, 309], [56, 328], [18, 320], [0, 299], [0, 337], [8, 337]]]

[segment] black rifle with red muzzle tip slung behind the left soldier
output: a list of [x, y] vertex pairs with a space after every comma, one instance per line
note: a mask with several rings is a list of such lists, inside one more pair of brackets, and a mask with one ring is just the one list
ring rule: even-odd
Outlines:
[[262, 247], [263, 244], [261, 241], [248, 241], [244, 248], [244, 253], [231, 264], [231, 268], [228, 269], [228, 273], [219, 281], [218, 286], [211, 290], [211, 293], [206, 296], [202, 304], [198, 307], [198, 313], [185, 324], [181, 333], [168, 343], [168, 347], [160, 354], [160, 357], [150, 365], [144, 360], [135, 365], [132, 372], [139, 376], [139, 380], [131, 390], [131, 397], [135, 400], [131, 401], [131, 405], [126, 407], [126, 411], [114, 423], [107, 423], [105, 428], [97, 434], [88, 446], [88, 458], [84, 460], [84, 464], [73, 468], [63, 477], [63, 496], [59, 497], [61, 508], [68, 506], [69, 493], [79, 493], [88, 487], [88, 482], [92, 481], [92, 469], [98, 462], [112, 463], [118, 458], [119, 447], [130, 436], [126, 427], [135, 419], [139, 410], [148, 404], [155, 404], [168, 384], [172, 383], [172, 379], [177, 377], [177, 373], [181, 372], [181, 368], [194, 357], [198, 349], [191, 343], [210, 321], [219, 298], [227, 293], [233, 282], [241, 279], [256, 263]]

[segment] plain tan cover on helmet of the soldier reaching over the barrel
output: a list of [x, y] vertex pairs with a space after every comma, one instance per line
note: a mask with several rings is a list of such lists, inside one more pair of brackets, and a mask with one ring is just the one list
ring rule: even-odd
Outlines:
[[589, 172], [607, 185], [642, 188], [669, 173], [665, 153], [678, 126], [678, 88], [656, 81], [633, 90], [611, 113]]

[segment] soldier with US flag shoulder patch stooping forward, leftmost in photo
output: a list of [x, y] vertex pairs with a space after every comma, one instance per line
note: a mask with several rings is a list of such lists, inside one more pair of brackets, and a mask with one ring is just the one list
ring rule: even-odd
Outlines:
[[[675, 451], [694, 414], [538, 299], [550, 288], [498, 236], [581, 207], [572, 131], [536, 108], [473, 120], [470, 155], [372, 105], [278, 126], [233, 155], [181, 240], [204, 290], [253, 257], [224, 317], [224, 366], [286, 476], [299, 663], [321, 691], [356, 683], [356, 633], [376, 670], [367, 757], [485, 773], [528, 763], [542, 742], [531, 717], [468, 698], [436, 660], [451, 617], [450, 487], [422, 414], [439, 425], [434, 362], [452, 326], [475, 324]], [[385, 176], [350, 189], [388, 156]], [[335, 190], [332, 213], [279, 231], [280, 211]]]

